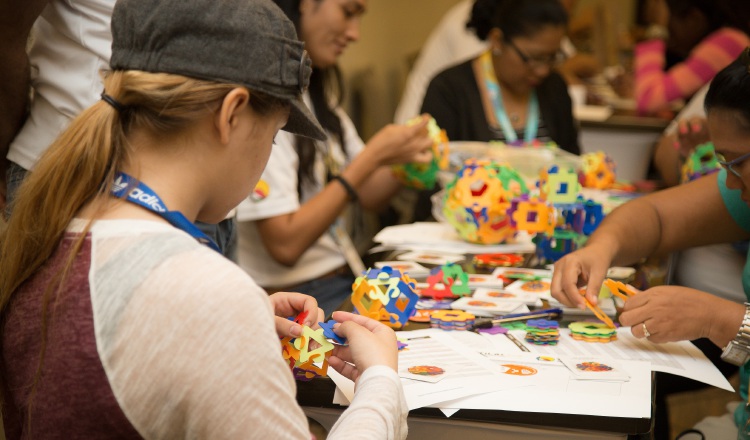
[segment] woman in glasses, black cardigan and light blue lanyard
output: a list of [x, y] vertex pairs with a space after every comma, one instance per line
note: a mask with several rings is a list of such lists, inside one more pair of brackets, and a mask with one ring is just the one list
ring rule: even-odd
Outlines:
[[567, 22], [558, 0], [477, 0], [467, 27], [490, 49], [438, 74], [422, 111], [451, 140], [539, 139], [579, 153], [567, 86], [554, 71]]

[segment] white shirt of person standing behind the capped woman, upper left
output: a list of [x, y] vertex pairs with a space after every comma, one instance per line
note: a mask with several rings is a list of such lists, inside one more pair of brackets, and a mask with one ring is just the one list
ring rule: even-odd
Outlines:
[[109, 68], [114, 0], [54, 0], [34, 23], [29, 50], [31, 112], [8, 159], [30, 170], [81, 111], [102, 93]]

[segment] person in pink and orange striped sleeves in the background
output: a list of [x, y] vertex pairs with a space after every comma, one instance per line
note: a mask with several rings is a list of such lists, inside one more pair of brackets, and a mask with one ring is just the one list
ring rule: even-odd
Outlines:
[[744, 0], [647, 0], [648, 27], [635, 47], [640, 113], [690, 98], [750, 45]]

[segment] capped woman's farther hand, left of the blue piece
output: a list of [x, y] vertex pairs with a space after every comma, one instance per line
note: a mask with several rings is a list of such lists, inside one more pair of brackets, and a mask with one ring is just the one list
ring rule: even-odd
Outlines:
[[317, 327], [318, 322], [325, 319], [323, 309], [318, 307], [318, 301], [310, 295], [296, 292], [276, 292], [268, 297], [273, 306], [276, 333], [280, 338], [302, 336], [302, 326], [287, 319], [307, 312], [304, 325]]

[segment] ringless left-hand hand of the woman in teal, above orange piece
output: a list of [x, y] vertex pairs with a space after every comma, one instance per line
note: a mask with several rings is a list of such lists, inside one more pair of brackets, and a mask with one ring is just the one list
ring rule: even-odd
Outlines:
[[587, 286], [586, 299], [595, 305], [611, 263], [611, 256], [601, 246], [587, 246], [562, 257], [552, 272], [552, 297], [567, 307], [584, 309], [580, 289]]

